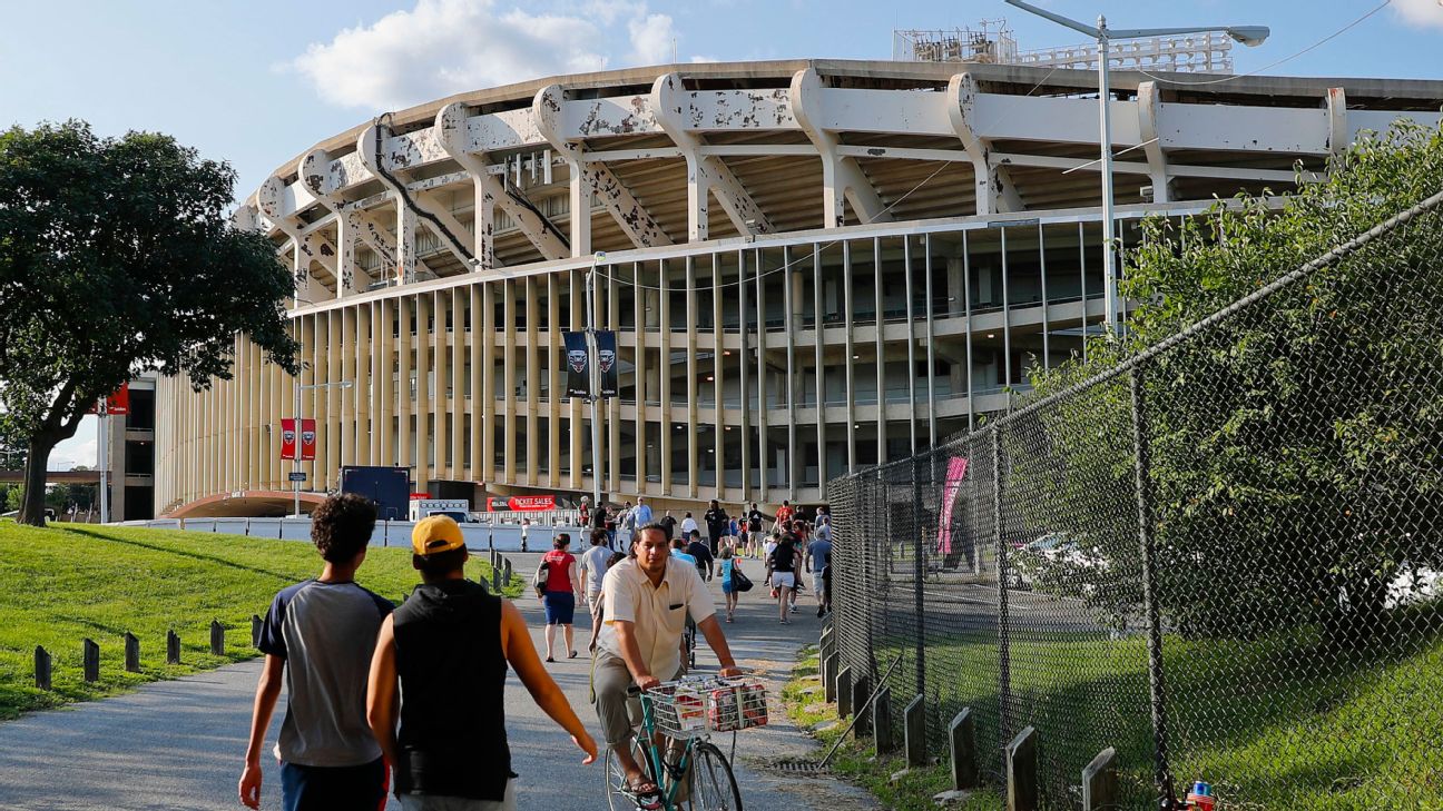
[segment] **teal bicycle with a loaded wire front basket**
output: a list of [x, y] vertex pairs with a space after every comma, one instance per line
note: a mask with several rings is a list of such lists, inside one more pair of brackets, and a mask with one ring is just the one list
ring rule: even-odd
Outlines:
[[[633, 729], [632, 756], [654, 778], [659, 804], [644, 805], [626, 782], [616, 753], [606, 750], [606, 804], [610, 811], [742, 811], [732, 762], [711, 743], [713, 732], [736, 733], [766, 723], [766, 687], [746, 678], [693, 675], [628, 694], [641, 698], [641, 724]], [[658, 745], [658, 737], [664, 745]], [[662, 749], [675, 750], [672, 759]], [[683, 799], [683, 786], [688, 789]], [[649, 795], [648, 795], [649, 797]]]

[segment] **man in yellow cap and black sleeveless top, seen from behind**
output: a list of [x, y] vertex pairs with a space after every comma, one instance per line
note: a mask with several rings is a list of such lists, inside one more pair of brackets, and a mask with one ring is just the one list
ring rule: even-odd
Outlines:
[[364, 701], [372, 743], [395, 768], [403, 811], [515, 811], [506, 665], [586, 753], [583, 763], [596, 760], [596, 742], [537, 658], [521, 612], [465, 579], [468, 551], [456, 522], [423, 520], [411, 551], [423, 582], [381, 625], [371, 658]]

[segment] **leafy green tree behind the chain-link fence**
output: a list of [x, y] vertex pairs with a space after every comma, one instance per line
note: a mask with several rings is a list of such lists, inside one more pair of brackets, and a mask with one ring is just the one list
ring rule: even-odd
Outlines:
[[[1443, 131], [1403, 123], [1362, 137], [1281, 208], [1242, 196], [1180, 227], [1149, 221], [1123, 284], [1140, 302], [1126, 339], [1038, 374], [1039, 393], [1177, 333], [1440, 188]], [[1173, 628], [1255, 636], [1315, 625], [1335, 644], [1365, 638], [1387, 626], [1400, 571], [1443, 566], [1440, 279], [1433, 212], [1147, 365], [1159, 596]], [[1127, 408], [1126, 387], [1107, 385], [1121, 397], [1092, 398]], [[1131, 476], [1117, 436], [1051, 436], [1074, 479]], [[1126, 522], [1118, 514], [1105, 532], [1118, 545], [1102, 553], [1134, 569]]]

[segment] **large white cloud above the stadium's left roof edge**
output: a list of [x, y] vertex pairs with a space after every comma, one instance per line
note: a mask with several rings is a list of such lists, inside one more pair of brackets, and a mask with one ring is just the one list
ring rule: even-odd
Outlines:
[[408, 12], [312, 43], [290, 66], [326, 101], [397, 110], [466, 89], [597, 71], [605, 42], [602, 29], [580, 16], [498, 13], [492, 0], [418, 0]]

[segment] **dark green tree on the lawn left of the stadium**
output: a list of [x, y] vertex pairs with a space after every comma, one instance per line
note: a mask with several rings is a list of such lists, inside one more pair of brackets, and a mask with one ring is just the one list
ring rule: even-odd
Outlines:
[[234, 185], [167, 136], [0, 134], [0, 408], [26, 443], [22, 522], [43, 524], [51, 450], [136, 372], [229, 380], [237, 333], [296, 371], [291, 279], [231, 225]]

